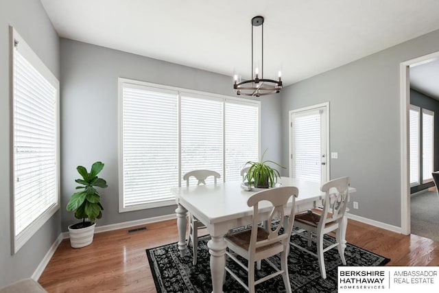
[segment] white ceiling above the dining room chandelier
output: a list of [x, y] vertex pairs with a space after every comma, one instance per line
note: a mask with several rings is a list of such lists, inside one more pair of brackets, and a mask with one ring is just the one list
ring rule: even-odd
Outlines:
[[265, 78], [284, 85], [439, 29], [438, 0], [41, 2], [64, 38], [244, 77], [261, 15]]

